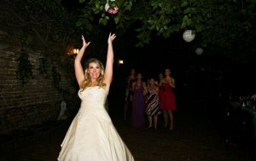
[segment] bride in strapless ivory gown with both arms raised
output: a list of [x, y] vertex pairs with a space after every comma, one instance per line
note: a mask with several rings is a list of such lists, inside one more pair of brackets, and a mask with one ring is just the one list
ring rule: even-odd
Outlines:
[[61, 143], [60, 161], [134, 161], [134, 158], [114, 128], [104, 107], [113, 77], [113, 40], [108, 36], [106, 69], [100, 60], [87, 60], [83, 70], [81, 60], [90, 45], [84, 37], [83, 47], [74, 60], [79, 83], [81, 106]]

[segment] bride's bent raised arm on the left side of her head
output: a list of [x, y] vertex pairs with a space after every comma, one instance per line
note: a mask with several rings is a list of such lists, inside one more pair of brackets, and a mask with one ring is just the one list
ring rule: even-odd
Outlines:
[[85, 42], [84, 36], [82, 36], [82, 40], [83, 40], [83, 47], [79, 50], [79, 54], [76, 56], [76, 58], [74, 60], [75, 75], [77, 78], [77, 82], [79, 83], [79, 86], [81, 85], [81, 83], [84, 80], [84, 70], [81, 65], [81, 60], [83, 58], [85, 49], [90, 44], [90, 42], [88, 42], [88, 43]]

